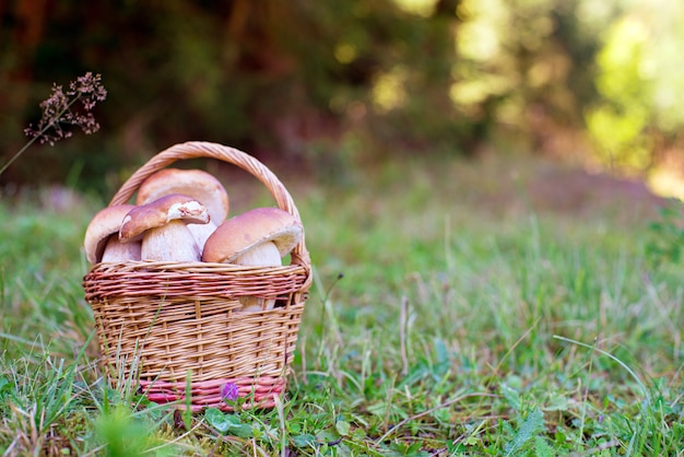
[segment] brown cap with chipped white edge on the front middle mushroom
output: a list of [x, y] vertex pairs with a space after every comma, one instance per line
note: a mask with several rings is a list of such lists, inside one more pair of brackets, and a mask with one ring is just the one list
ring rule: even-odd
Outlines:
[[186, 224], [207, 224], [210, 216], [207, 207], [192, 197], [172, 194], [130, 210], [121, 223], [119, 241], [138, 241], [145, 231], [175, 220], [181, 220]]

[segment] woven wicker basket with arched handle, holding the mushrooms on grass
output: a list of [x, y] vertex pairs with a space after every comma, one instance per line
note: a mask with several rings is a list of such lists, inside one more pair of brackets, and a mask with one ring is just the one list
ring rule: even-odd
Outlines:
[[[299, 219], [287, 189], [262, 163], [233, 148], [176, 144], [138, 169], [109, 206], [128, 202], [142, 181], [177, 160], [211, 157], [258, 178], [278, 207]], [[193, 411], [223, 401], [226, 384], [243, 408], [272, 408], [286, 384], [310, 285], [304, 238], [282, 267], [205, 262], [98, 263], [83, 279], [104, 366], [115, 388], [128, 385], [154, 402]], [[273, 309], [240, 312], [239, 297], [275, 300]], [[189, 395], [188, 395], [189, 394]]]

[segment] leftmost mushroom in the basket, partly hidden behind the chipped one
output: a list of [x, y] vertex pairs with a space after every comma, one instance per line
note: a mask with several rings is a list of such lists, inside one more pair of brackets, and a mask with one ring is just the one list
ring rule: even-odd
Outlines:
[[83, 239], [89, 262], [95, 265], [101, 261], [140, 260], [140, 243], [122, 244], [118, 237], [123, 218], [133, 208], [135, 208], [133, 204], [115, 204], [95, 214], [85, 230]]

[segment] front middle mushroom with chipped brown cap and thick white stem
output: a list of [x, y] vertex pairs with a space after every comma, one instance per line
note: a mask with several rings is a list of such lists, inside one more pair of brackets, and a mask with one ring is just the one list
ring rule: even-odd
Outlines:
[[202, 203], [172, 194], [130, 210], [119, 230], [119, 241], [142, 239], [142, 260], [199, 261], [200, 249], [186, 224], [209, 221], [209, 211]]

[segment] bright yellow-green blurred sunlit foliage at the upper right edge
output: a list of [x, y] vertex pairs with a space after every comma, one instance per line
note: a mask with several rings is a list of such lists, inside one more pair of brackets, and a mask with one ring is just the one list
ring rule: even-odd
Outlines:
[[684, 4], [615, 3], [621, 15], [605, 28], [597, 59], [600, 97], [586, 119], [600, 163], [648, 172], [684, 127]]

